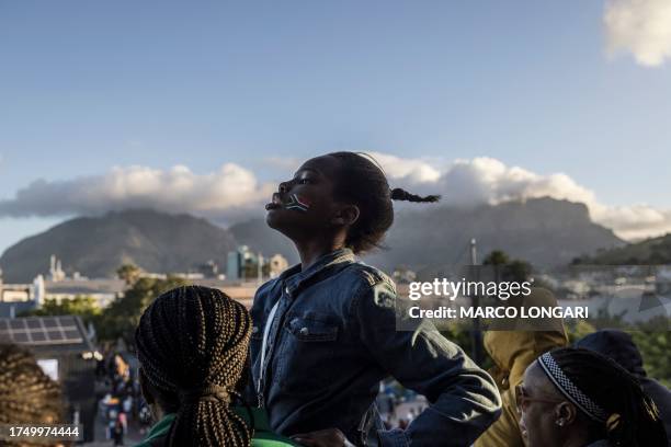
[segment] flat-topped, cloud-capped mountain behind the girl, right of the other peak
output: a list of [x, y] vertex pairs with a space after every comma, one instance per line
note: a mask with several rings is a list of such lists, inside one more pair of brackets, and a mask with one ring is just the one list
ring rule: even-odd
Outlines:
[[[291, 242], [262, 219], [230, 228], [236, 239], [254, 251], [282, 253], [297, 262]], [[503, 250], [535, 265], [556, 266], [599, 249], [624, 245], [612, 230], [591, 221], [583, 204], [553, 198], [508, 202], [473, 208], [409, 204], [397, 211], [384, 245], [364, 261], [391, 271], [440, 271], [468, 263], [468, 244], [476, 238], [480, 256]]]

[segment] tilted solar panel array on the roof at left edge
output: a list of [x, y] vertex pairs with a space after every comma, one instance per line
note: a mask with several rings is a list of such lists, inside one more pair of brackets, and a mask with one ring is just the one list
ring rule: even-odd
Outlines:
[[84, 336], [75, 317], [26, 317], [0, 319], [0, 340], [29, 345], [83, 343]]

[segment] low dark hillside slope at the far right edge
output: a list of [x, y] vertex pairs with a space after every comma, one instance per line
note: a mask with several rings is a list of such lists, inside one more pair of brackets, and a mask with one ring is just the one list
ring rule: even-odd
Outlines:
[[579, 257], [576, 263], [599, 265], [671, 264], [671, 233], [612, 250], [602, 250], [592, 256]]

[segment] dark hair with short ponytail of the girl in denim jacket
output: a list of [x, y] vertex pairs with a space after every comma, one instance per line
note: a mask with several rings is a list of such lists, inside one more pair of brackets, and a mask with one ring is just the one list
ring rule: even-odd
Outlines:
[[385, 233], [394, 224], [391, 200], [417, 203], [437, 202], [441, 196], [419, 196], [406, 190], [389, 188], [387, 177], [371, 156], [359, 152], [332, 152], [340, 161], [336, 198], [349, 200], [359, 207], [359, 219], [350, 228], [345, 245], [354, 253], [363, 253], [380, 247]]

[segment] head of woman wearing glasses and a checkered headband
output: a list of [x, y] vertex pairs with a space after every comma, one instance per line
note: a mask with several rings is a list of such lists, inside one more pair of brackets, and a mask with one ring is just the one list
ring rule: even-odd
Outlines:
[[515, 389], [528, 447], [666, 447], [667, 434], [638, 379], [593, 351], [541, 355]]

